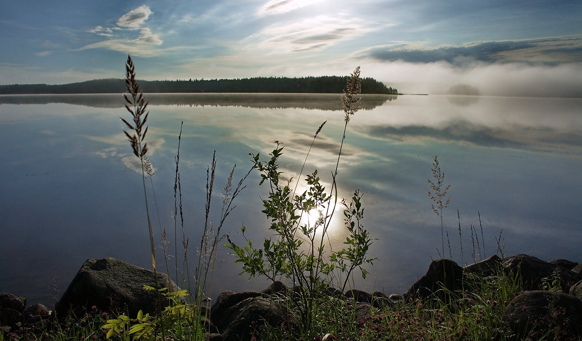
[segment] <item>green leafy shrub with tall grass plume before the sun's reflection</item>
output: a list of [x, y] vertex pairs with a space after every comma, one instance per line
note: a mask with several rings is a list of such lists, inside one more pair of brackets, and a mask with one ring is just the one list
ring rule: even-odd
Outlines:
[[[284, 180], [281, 176], [279, 158], [283, 154], [283, 147], [279, 141], [275, 141], [276, 147], [267, 160], [261, 161], [259, 154], [249, 154], [253, 168], [260, 173], [259, 184], [266, 183], [269, 186], [268, 197], [262, 200], [264, 207], [262, 212], [271, 222], [269, 230], [274, 237], [265, 238], [262, 247], [256, 247], [252, 240], [247, 239], [246, 227], [243, 226], [242, 234], [247, 243], [240, 247], [227, 235], [226, 247], [232, 250], [231, 254], [236, 257], [235, 262], [242, 264], [243, 272], [249, 273], [249, 278], [262, 275], [273, 282], [285, 278], [295, 286], [294, 292], [299, 295], [295, 308], [303, 322], [301, 324], [303, 335], [310, 332], [315, 318], [316, 301], [324, 289], [333, 285], [345, 289], [354, 269], [360, 268], [362, 276], [365, 277], [368, 272], [362, 265], [372, 264], [375, 260], [367, 257], [372, 239], [361, 224], [363, 207], [361, 194], [357, 190], [350, 204], [342, 201], [346, 207], [344, 215], [349, 231], [344, 242], [346, 247], [335, 251], [331, 245], [325, 243], [331, 218], [338, 203], [336, 176], [347, 123], [360, 109], [360, 97], [357, 97], [360, 92], [361, 79], [358, 67], [347, 79], [346, 89], [342, 94], [345, 127], [338, 162], [335, 171], [332, 172], [331, 189], [327, 190], [323, 186], [318, 171], [315, 170], [305, 178], [308, 189], [295, 194], [290, 188], [292, 180]], [[322, 126], [323, 124], [315, 133], [314, 140]], [[311, 212], [318, 214], [314, 217]]]

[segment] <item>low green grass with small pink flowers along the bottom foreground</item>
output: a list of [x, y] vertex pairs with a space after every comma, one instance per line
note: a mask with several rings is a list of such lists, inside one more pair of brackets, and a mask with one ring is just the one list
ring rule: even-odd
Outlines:
[[[449, 293], [456, 299], [445, 303], [438, 299], [373, 302], [360, 317], [361, 306], [349, 300], [320, 298], [311, 328], [310, 340], [499, 340], [510, 339], [502, 322], [507, 304], [521, 287], [519, 282], [501, 274], [494, 280], [468, 285], [463, 292]], [[289, 304], [289, 297], [278, 299]], [[374, 307], [377, 306], [377, 307]], [[364, 306], [367, 310], [368, 306]], [[100, 312], [88, 312], [80, 319], [70, 319], [66, 326], [56, 325], [49, 331], [22, 330], [0, 332], [0, 340], [102, 340], [101, 324], [107, 319]], [[169, 329], [170, 340], [197, 340], [191, 324]], [[254, 324], [254, 340], [295, 340], [285, 326]], [[119, 335], [119, 339], [124, 339]]]

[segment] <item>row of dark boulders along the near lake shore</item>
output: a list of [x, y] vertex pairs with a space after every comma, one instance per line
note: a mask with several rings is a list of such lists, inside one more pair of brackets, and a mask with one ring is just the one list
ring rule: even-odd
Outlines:
[[[563, 332], [556, 340], [582, 339], [582, 264], [573, 261], [545, 262], [524, 254], [502, 259], [493, 255], [463, 268], [454, 261], [442, 259], [431, 262], [427, 273], [403, 294], [361, 290], [342, 293], [331, 287], [327, 294], [350, 301], [357, 318], [365, 319], [402, 301], [462, 290], [467, 283], [496, 276], [500, 270], [518, 276], [524, 286], [524, 291], [507, 304], [503, 316], [516, 335], [545, 335], [557, 326]], [[558, 290], [547, 290], [548, 281]], [[169, 291], [179, 290], [163, 273], [158, 273], [158, 283]], [[87, 260], [54, 311], [42, 304], [26, 307], [15, 294], [0, 294], [0, 335], [23, 326], [40, 328], [45, 321], [63, 322], [71, 313], [95, 307], [114, 316], [123, 311], [132, 317], [139, 310], [155, 314], [159, 311], [157, 296], [152, 290], [144, 290], [144, 285], [155, 286], [154, 273], [150, 270], [113, 258]], [[250, 340], [250, 326], [255, 321], [275, 326], [283, 322], [297, 323], [285, 306], [272, 299], [293, 290], [297, 288], [276, 282], [262, 292], [222, 292], [202, 314], [201, 322], [210, 331], [205, 338]], [[168, 304], [164, 301], [162, 308]]]

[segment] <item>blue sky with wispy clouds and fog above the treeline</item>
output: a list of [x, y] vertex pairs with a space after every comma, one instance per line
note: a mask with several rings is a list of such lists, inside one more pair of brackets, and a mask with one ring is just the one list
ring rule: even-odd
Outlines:
[[347, 76], [582, 97], [582, 1], [0, 1], [0, 84]]

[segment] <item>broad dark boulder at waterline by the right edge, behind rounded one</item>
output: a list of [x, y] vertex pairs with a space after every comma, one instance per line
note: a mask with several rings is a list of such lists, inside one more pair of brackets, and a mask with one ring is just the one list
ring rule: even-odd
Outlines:
[[548, 282], [551, 285], [553, 276], [559, 275], [560, 289], [563, 292], [569, 292], [570, 286], [582, 279], [582, 276], [578, 273], [526, 254], [504, 258], [503, 266], [514, 275], [519, 273], [526, 290], [542, 289], [544, 282]]

